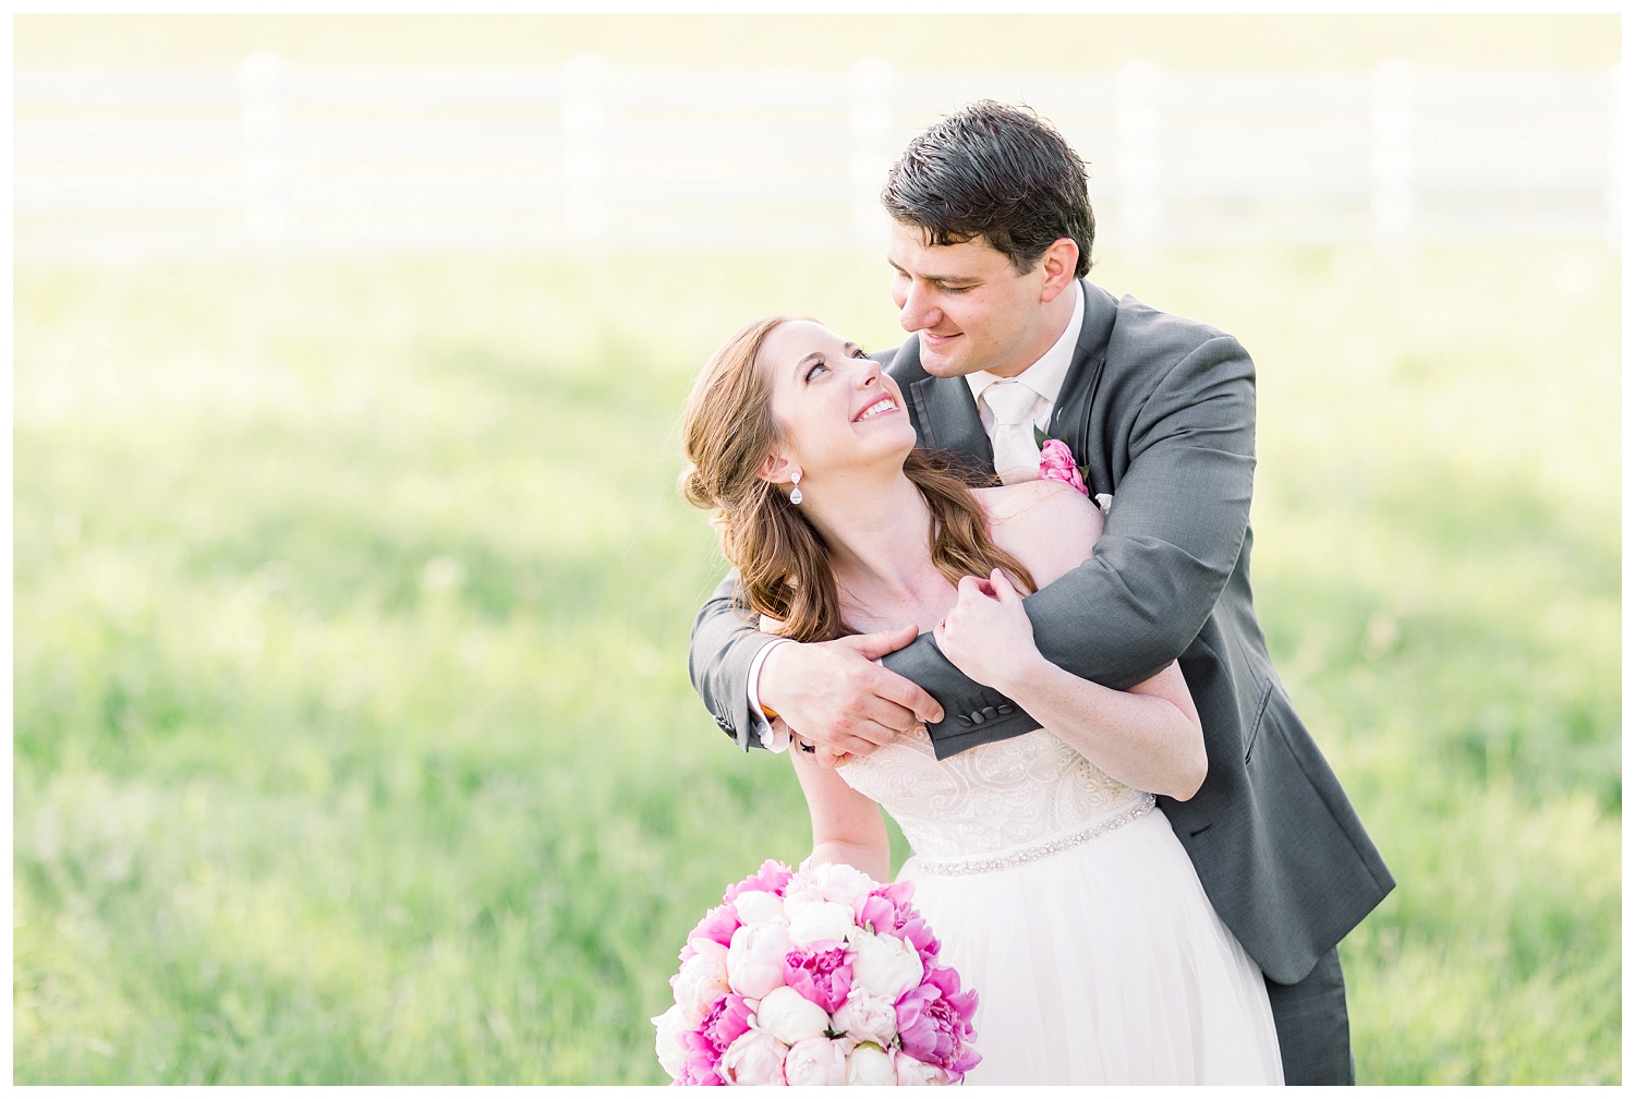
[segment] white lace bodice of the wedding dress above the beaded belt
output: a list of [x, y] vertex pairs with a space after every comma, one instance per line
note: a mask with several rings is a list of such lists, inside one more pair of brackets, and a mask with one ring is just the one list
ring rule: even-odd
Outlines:
[[922, 864], [948, 873], [1050, 854], [1153, 806], [1045, 729], [938, 762], [922, 726], [839, 774], [891, 813]]

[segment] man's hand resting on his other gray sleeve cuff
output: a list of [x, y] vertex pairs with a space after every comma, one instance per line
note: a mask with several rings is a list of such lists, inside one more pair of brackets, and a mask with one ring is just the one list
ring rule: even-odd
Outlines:
[[[917, 636], [912, 625], [811, 644], [780, 644], [760, 666], [755, 693], [790, 729], [818, 746], [821, 762], [867, 756], [942, 706], [909, 679], [875, 664]], [[827, 751], [826, 751], [827, 749]]]

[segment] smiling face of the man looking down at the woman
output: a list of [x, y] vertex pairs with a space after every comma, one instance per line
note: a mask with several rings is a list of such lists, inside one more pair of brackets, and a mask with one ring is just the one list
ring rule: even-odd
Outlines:
[[1046, 293], [1045, 265], [1024, 273], [983, 237], [927, 244], [922, 229], [901, 222], [891, 229], [886, 258], [894, 268], [891, 298], [903, 329], [919, 334], [929, 375], [986, 370], [1012, 378], [1055, 342], [1046, 339], [1045, 304], [1055, 294]]

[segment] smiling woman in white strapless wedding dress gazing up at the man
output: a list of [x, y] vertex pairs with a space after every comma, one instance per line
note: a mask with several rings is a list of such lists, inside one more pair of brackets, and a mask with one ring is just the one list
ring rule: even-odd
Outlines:
[[1153, 795], [1207, 759], [1180, 669], [1117, 692], [1045, 661], [1022, 595], [1086, 561], [1100, 512], [1058, 481], [968, 487], [916, 450], [880, 365], [768, 317], [688, 397], [683, 491], [713, 512], [762, 628], [800, 641], [916, 623], [1045, 728], [938, 762], [924, 729], [839, 769], [791, 752], [813, 862], [901, 878], [979, 994], [973, 1084], [1282, 1083], [1259, 968]]

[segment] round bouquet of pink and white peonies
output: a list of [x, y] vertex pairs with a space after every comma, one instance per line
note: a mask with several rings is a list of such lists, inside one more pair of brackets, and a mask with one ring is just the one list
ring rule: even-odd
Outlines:
[[687, 935], [654, 1019], [677, 1084], [956, 1084], [976, 993], [909, 898], [840, 864], [767, 860]]

